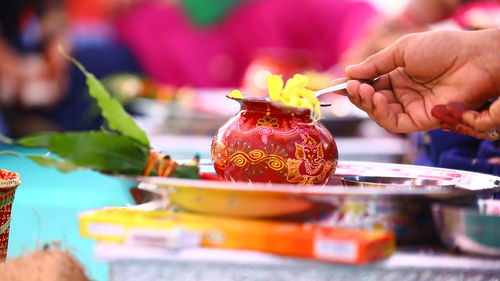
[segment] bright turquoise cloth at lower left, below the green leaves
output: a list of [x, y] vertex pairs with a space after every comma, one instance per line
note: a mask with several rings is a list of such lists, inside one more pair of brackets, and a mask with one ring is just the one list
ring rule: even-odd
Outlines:
[[132, 204], [129, 187], [133, 183], [92, 171], [63, 174], [7, 155], [0, 155], [0, 168], [18, 172], [22, 181], [12, 209], [8, 257], [59, 241], [82, 262], [93, 280], [107, 280], [107, 265], [93, 258], [94, 242], [79, 235], [77, 215], [82, 210]]

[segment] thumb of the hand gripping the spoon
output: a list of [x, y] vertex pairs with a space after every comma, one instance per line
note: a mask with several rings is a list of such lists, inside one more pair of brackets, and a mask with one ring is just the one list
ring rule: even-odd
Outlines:
[[404, 66], [404, 53], [408, 41], [413, 35], [406, 35], [389, 47], [369, 56], [363, 62], [346, 67], [345, 73], [354, 79], [370, 79], [387, 74], [392, 70]]

